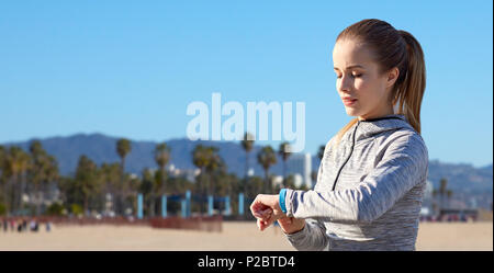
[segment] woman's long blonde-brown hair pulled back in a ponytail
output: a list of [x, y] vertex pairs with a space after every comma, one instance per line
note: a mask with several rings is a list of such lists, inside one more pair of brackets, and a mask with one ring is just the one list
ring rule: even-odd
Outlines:
[[[406, 31], [396, 31], [388, 22], [366, 19], [345, 29], [336, 38], [357, 39], [374, 53], [380, 73], [397, 67], [398, 78], [390, 94], [395, 114], [406, 117], [412, 127], [420, 134], [420, 105], [426, 87], [424, 52], [417, 39]], [[336, 134], [339, 144], [345, 133], [358, 122], [352, 118]]]

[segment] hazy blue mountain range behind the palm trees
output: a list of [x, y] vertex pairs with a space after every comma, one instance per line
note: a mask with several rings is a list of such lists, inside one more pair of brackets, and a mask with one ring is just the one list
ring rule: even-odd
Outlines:
[[[19, 146], [24, 150], [34, 139], [19, 143], [5, 143], [3, 146]], [[120, 162], [116, 153], [117, 137], [102, 134], [76, 134], [66, 137], [49, 137], [37, 139], [42, 143], [46, 151], [58, 161], [59, 172], [64, 175], [74, 173], [79, 157], [86, 155], [97, 164], [103, 162]], [[141, 174], [144, 168], [158, 168], [154, 160], [155, 141], [132, 141], [132, 151], [125, 159], [125, 170], [127, 172]], [[246, 153], [239, 143], [234, 141], [192, 141], [187, 138], [167, 140], [167, 146], [171, 149], [172, 163], [178, 169], [194, 169], [192, 163], [192, 150], [198, 144], [215, 146], [220, 149], [220, 156], [225, 160], [228, 172], [243, 177], [245, 173]], [[276, 150], [278, 147], [273, 147]], [[256, 155], [261, 146], [254, 146], [249, 155], [249, 166], [254, 168], [256, 175], [263, 175], [262, 168], [257, 163]], [[271, 173], [282, 173], [282, 160], [270, 169]], [[312, 157], [312, 169], [317, 171], [319, 159]], [[492, 163], [482, 168], [475, 168], [468, 163], [447, 163], [439, 160], [429, 160], [428, 180], [435, 187], [438, 186], [441, 178], [448, 180], [448, 187], [453, 191], [468, 193], [491, 192], [493, 190], [493, 166]]]

